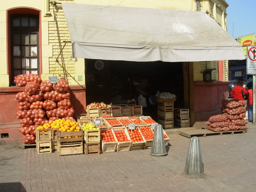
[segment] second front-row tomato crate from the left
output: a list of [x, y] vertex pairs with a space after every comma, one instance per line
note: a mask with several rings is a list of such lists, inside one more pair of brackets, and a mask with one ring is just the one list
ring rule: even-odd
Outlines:
[[113, 128], [114, 137], [117, 140], [116, 151], [130, 151], [132, 141], [126, 127]]

